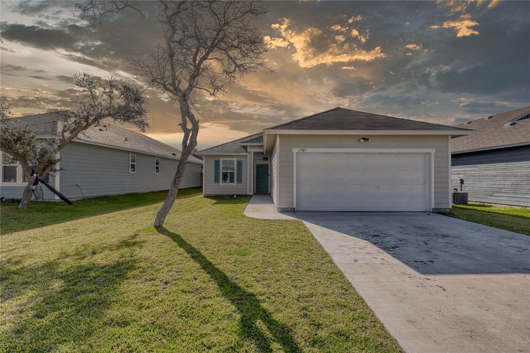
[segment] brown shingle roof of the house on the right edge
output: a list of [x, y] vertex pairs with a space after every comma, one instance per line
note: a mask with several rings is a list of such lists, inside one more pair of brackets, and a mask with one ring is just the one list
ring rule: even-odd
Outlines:
[[452, 152], [486, 150], [530, 144], [530, 106], [457, 125], [471, 135], [451, 140]]

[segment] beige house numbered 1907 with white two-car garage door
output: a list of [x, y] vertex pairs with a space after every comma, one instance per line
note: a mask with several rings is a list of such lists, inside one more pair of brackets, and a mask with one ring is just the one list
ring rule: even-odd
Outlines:
[[449, 140], [470, 133], [334, 108], [197, 154], [205, 195], [270, 194], [279, 211], [442, 211]]

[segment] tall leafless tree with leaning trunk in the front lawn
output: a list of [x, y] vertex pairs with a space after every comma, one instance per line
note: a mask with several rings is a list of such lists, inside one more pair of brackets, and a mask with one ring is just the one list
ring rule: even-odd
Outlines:
[[[101, 3], [102, 2], [92, 2]], [[109, 2], [103, 2], [109, 5]], [[217, 97], [245, 74], [267, 68], [267, 46], [254, 21], [267, 13], [257, 1], [158, 1], [163, 41], [153, 53], [128, 61], [131, 72], [180, 107], [182, 155], [167, 198], [156, 215], [162, 227], [197, 146], [199, 92]], [[138, 5], [138, 4], [137, 4]]]

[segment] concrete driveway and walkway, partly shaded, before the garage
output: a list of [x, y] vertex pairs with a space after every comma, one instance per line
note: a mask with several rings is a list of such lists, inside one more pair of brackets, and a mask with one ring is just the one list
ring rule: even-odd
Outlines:
[[530, 237], [423, 212], [245, 214], [302, 220], [409, 352], [530, 352]]

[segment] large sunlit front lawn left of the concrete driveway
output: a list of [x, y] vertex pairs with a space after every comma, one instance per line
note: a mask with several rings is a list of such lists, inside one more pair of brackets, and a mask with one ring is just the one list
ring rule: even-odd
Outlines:
[[401, 351], [302, 222], [248, 200], [4, 234], [0, 351]]

